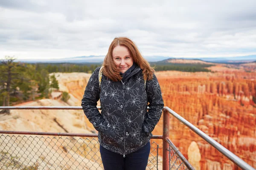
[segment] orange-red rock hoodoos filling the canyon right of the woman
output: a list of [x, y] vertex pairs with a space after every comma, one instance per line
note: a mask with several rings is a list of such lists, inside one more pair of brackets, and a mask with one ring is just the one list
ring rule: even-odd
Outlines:
[[[251, 166], [256, 167], [255, 73], [157, 73], [166, 106], [207, 133]], [[244, 77], [248, 77], [244, 79]], [[154, 134], [162, 134], [161, 122]], [[236, 169], [231, 161], [171, 116], [170, 139], [188, 158], [197, 142], [201, 169]]]

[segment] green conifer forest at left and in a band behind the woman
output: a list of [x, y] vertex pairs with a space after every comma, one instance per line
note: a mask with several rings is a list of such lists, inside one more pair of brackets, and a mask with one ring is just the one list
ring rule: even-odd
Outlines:
[[[164, 64], [150, 63], [155, 71], [209, 71], [211, 65], [202, 64]], [[58, 90], [58, 81], [53, 72], [84, 72], [92, 73], [100, 63], [23, 63], [15, 62], [14, 57], [0, 60], [0, 106], [14, 105], [35, 99], [49, 98], [52, 90]], [[69, 96], [63, 100], [66, 101]]]

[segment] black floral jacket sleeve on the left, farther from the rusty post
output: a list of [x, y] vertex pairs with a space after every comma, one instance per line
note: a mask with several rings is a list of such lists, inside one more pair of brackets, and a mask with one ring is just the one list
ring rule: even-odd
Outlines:
[[84, 96], [82, 99], [82, 109], [85, 116], [93, 124], [94, 128], [99, 131], [104, 118], [99, 113], [97, 108], [97, 102], [99, 100], [99, 68], [96, 68], [93, 74], [91, 75], [87, 86], [84, 91]]

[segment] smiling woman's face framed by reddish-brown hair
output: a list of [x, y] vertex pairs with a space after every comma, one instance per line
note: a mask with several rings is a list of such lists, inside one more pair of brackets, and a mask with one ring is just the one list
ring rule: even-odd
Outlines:
[[116, 46], [113, 49], [113, 60], [121, 73], [124, 73], [133, 65], [133, 59], [127, 47]]

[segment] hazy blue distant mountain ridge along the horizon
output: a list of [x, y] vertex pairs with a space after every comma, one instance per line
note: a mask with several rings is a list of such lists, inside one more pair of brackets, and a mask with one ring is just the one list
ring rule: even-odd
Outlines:
[[[102, 63], [105, 56], [80, 56], [80, 57], [70, 57], [62, 59], [17, 59], [18, 62], [28, 62], [28, 63]], [[214, 57], [214, 58], [175, 58], [175, 57], [163, 57], [163, 56], [145, 56], [148, 62], [164, 62], [169, 59], [186, 59], [186, 60], [200, 60], [204, 62], [215, 62], [215, 63], [246, 63], [256, 61], [256, 55], [250, 56], [240, 56], [240, 57]]]

